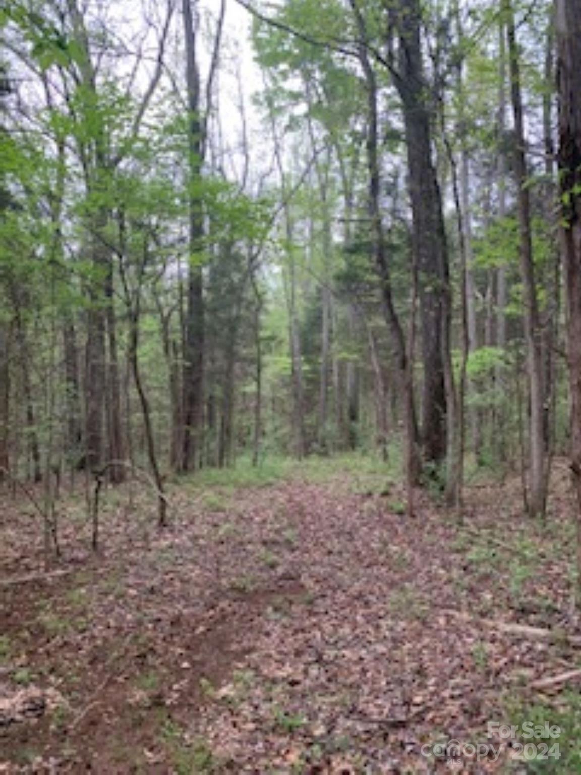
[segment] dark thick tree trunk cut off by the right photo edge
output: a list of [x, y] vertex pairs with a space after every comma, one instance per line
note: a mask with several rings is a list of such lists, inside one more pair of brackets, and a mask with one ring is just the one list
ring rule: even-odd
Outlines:
[[581, 0], [556, 0], [561, 243], [567, 288], [571, 469], [577, 497], [577, 607], [581, 608]]

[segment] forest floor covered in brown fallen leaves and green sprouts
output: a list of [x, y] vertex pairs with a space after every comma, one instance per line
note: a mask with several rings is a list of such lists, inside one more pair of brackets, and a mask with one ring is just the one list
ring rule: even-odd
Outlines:
[[0, 773], [581, 772], [565, 466], [545, 527], [515, 481], [458, 525], [380, 467], [307, 471], [182, 482], [165, 532], [109, 491], [97, 556], [70, 496], [46, 574], [3, 496]]

